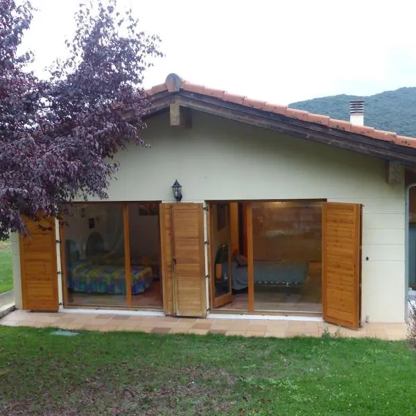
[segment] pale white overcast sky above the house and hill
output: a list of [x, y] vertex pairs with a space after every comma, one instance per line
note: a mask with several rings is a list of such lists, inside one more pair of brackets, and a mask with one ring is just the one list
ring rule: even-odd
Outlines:
[[[64, 57], [80, 0], [32, 0], [22, 47], [32, 69]], [[145, 87], [175, 72], [191, 83], [271, 103], [416, 86], [414, 0], [119, 0], [166, 55]]]

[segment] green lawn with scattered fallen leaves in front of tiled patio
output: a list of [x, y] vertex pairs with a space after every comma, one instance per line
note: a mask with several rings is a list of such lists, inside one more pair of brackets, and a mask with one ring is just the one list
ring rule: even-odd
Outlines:
[[0, 415], [415, 415], [404, 342], [0, 327]]

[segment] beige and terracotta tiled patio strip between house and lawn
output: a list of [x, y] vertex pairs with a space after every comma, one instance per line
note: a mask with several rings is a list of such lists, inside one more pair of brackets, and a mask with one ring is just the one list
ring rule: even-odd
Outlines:
[[90, 331], [141, 331], [148, 333], [223, 333], [227, 336], [259, 336], [290, 338], [322, 336], [324, 331], [345, 337], [375, 337], [385, 340], [406, 339], [405, 324], [366, 324], [354, 331], [324, 322], [274, 319], [173, 318], [168, 316], [125, 315], [111, 313], [57, 312], [37, 313], [13, 311], [0, 320], [10, 327], [58, 327]]

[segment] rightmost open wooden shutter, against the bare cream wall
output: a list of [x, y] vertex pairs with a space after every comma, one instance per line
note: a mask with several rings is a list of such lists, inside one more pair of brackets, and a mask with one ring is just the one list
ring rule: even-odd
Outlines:
[[325, 321], [361, 320], [361, 205], [322, 203], [322, 311]]

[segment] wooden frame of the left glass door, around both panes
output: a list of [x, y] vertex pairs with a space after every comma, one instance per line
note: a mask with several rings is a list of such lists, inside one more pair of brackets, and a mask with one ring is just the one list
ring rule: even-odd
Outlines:
[[[130, 204], [157, 204], [158, 206], [158, 214], [157, 214], [157, 236], [159, 240], [159, 250], [160, 250], [160, 210], [159, 204], [161, 201], [88, 201], [88, 202], [73, 202], [71, 205], [121, 205], [122, 207], [122, 215], [123, 215], [123, 243], [125, 248], [124, 249], [124, 267], [126, 270], [125, 274], [125, 305], [123, 306], [108, 306], [106, 304], [94, 304], [94, 305], [82, 305], [82, 304], [68, 304], [68, 288], [67, 288], [67, 259], [66, 259], [66, 245], [65, 245], [65, 225], [60, 223], [59, 231], [60, 231], [60, 268], [61, 268], [61, 279], [62, 279], [62, 307], [64, 309], [114, 309], [114, 310], [133, 310], [133, 311], [160, 311], [164, 309], [164, 297], [162, 295], [162, 306], [159, 307], [147, 307], [147, 306], [132, 306], [132, 292], [131, 292], [131, 262], [130, 262], [130, 211], [129, 205]], [[160, 253], [159, 257], [162, 256]], [[57, 261], [58, 265], [58, 261]], [[163, 272], [162, 267], [159, 267], [159, 281], [163, 287]]]

